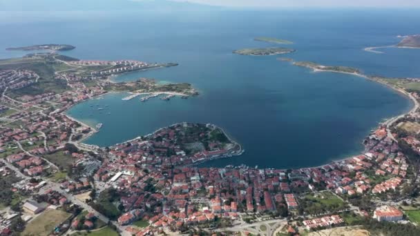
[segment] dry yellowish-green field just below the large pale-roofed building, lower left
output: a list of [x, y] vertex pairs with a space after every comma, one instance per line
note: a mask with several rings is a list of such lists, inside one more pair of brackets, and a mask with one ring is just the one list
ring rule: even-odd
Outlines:
[[56, 226], [64, 222], [70, 213], [48, 209], [26, 226], [21, 235], [49, 235]]

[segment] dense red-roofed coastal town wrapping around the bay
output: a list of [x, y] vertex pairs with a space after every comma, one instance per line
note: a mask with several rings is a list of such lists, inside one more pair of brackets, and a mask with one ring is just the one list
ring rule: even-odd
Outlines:
[[[27, 60], [57, 70], [38, 75]], [[66, 110], [106, 86], [126, 88], [109, 75], [142, 63], [55, 54], [23, 58], [19, 70], [13, 63], [0, 63], [1, 235], [306, 235], [343, 226], [419, 233], [416, 91], [405, 90], [414, 109], [372, 130], [355, 157], [287, 170], [207, 168], [198, 165], [245, 151], [214, 124], [182, 122], [106, 148], [82, 142], [97, 130]], [[37, 93], [25, 92], [31, 86]]]

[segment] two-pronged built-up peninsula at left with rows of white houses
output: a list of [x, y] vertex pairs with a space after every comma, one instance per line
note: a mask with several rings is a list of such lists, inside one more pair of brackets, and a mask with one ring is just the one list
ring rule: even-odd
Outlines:
[[[0, 90], [12, 99], [25, 95], [25, 99], [58, 96], [75, 89], [90, 91], [95, 89], [95, 92], [90, 92], [87, 97], [84, 96], [84, 99], [107, 92], [158, 92], [180, 97], [198, 95], [191, 83], [160, 84], [155, 79], [146, 78], [117, 83], [112, 79], [113, 75], [135, 70], [177, 65], [177, 63], [147, 63], [134, 60], [88, 61], [54, 52], [34, 53], [22, 58], [0, 61], [0, 71], [3, 70], [5, 78], [8, 78], [4, 79], [3, 83], [0, 81]], [[79, 99], [73, 99], [76, 100]]]

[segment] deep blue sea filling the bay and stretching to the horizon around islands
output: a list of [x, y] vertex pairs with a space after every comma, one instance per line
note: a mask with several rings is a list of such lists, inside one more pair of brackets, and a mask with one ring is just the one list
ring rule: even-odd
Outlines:
[[[104, 124], [88, 144], [108, 146], [180, 121], [212, 123], [225, 128], [246, 153], [205, 166], [292, 168], [359, 153], [363, 137], [379, 121], [408, 111], [411, 102], [360, 77], [311, 72], [276, 56], [231, 51], [276, 46], [253, 39], [278, 37], [295, 42], [289, 47], [297, 51], [285, 57], [298, 61], [420, 77], [420, 50], [363, 51], [397, 43], [397, 35], [417, 34], [419, 29], [420, 10], [0, 12], [0, 48], [68, 43], [77, 48], [65, 54], [80, 59], [176, 62], [180, 66], [117, 80], [150, 77], [193, 83], [200, 90], [200, 96], [187, 100], [142, 103], [112, 94], [79, 104], [68, 115]], [[0, 50], [0, 58], [21, 55]], [[96, 104], [105, 109], [90, 107]]]

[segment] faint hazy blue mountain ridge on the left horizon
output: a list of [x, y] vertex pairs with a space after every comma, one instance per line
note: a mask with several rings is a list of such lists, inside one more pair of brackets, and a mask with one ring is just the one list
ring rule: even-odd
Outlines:
[[218, 8], [169, 0], [0, 0], [0, 11], [199, 10]]

